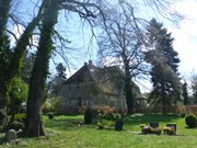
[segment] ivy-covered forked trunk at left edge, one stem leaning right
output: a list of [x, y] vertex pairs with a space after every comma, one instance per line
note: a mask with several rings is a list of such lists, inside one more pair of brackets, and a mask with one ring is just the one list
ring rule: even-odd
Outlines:
[[[1, 27], [1, 31], [4, 36], [5, 36], [5, 24], [7, 24], [7, 21], [8, 21], [8, 15], [10, 13], [10, 3], [11, 3], [11, 0], [8, 0], [8, 1], [0, 1], [0, 4], [5, 4], [5, 5], [2, 5], [2, 8], [5, 8], [4, 9], [4, 13], [1, 13], [2, 14], [2, 27]], [[21, 68], [22, 68], [22, 65], [23, 65], [23, 57], [24, 57], [24, 53], [26, 50], [26, 46], [28, 45], [30, 43], [30, 38], [32, 36], [32, 33], [35, 29], [35, 26], [38, 24], [39, 20], [42, 19], [42, 13], [43, 13], [43, 9], [45, 7], [45, 2], [43, 2], [43, 4], [40, 5], [40, 9], [37, 13], [37, 16], [35, 16], [32, 22], [26, 26], [24, 33], [21, 35], [20, 39], [16, 43], [16, 46], [13, 47], [12, 52], [13, 54], [5, 54], [3, 53], [3, 58], [2, 59], [5, 59], [5, 64], [3, 67], [3, 70], [2, 70], [2, 75], [3, 76], [1, 78], [1, 91], [3, 92], [2, 93], [2, 98], [3, 98], [3, 103], [1, 104], [2, 107], [5, 107], [5, 102], [8, 100], [8, 89], [9, 89], [9, 86], [10, 86], [10, 82], [12, 81], [13, 78], [18, 77], [20, 75], [20, 71], [21, 71]], [[4, 14], [4, 15], [3, 15]], [[4, 39], [4, 38], [8, 38], [8, 36], [3, 37], [3, 36], [0, 36], [0, 39]], [[4, 49], [7, 49], [7, 53], [11, 53], [8, 48], [9, 48], [9, 42], [8, 39], [5, 39], [3, 43], [7, 43], [7, 45], [3, 47], [3, 44], [2, 44], [2, 48], [1, 48], [1, 52], [2, 53]], [[3, 64], [3, 62], [1, 62]], [[0, 64], [0, 65], [1, 65]]]

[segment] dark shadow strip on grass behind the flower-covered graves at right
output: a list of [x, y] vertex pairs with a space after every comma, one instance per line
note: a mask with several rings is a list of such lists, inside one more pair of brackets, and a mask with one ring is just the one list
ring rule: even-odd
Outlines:
[[142, 123], [167, 123], [167, 122], [172, 122], [174, 119], [179, 118], [178, 115], [173, 115], [173, 114], [169, 114], [169, 115], [162, 115], [162, 114], [135, 114], [135, 115], [130, 115], [125, 117], [125, 124], [129, 124], [129, 125], [139, 125]]

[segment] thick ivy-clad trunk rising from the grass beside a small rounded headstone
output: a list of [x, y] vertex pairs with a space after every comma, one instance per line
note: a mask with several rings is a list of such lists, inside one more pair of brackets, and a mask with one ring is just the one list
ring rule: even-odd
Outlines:
[[42, 103], [45, 93], [46, 79], [48, 75], [49, 58], [53, 50], [51, 34], [57, 22], [58, 4], [55, 0], [48, 0], [48, 8], [44, 14], [43, 27], [40, 30], [39, 47], [33, 67], [30, 82], [30, 92], [26, 106], [26, 136], [44, 136], [42, 122]]

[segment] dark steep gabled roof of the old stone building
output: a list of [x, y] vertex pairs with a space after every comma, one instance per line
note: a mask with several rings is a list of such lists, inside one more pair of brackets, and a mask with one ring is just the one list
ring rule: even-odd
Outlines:
[[[99, 88], [106, 94], [119, 95], [123, 91], [123, 71], [117, 66], [112, 67], [95, 67], [91, 60], [84, 62], [84, 65], [73, 73], [65, 84], [81, 83], [85, 81], [94, 81]], [[136, 86], [136, 83], [134, 83]], [[136, 86], [135, 92], [139, 92], [139, 88]]]

